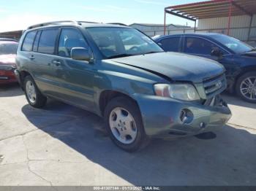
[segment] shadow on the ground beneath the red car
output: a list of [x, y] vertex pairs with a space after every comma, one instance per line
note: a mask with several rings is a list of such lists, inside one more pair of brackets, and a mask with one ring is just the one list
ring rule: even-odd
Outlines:
[[23, 94], [24, 93], [20, 89], [18, 83], [12, 83], [8, 85], [0, 84], [0, 97], [15, 97]]

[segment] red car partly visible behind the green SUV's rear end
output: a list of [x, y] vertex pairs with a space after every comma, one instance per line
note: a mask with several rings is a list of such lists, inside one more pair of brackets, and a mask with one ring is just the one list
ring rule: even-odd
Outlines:
[[18, 42], [0, 38], [0, 85], [17, 82], [14, 74]]

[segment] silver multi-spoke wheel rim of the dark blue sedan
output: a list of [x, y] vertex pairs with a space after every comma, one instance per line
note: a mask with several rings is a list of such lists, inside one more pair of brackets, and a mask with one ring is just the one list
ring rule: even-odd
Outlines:
[[241, 82], [240, 85], [241, 94], [245, 98], [255, 101], [256, 100], [256, 77], [247, 77]]

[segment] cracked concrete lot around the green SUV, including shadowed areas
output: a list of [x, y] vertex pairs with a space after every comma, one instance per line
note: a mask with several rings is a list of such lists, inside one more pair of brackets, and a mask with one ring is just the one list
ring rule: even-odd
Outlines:
[[0, 185], [256, 185], [256, 105], [225, 99], [233, 118], [215, 139], [152, 140], [131, 154], [94, 114], [33, 109], [17, 86], [0, 87]]

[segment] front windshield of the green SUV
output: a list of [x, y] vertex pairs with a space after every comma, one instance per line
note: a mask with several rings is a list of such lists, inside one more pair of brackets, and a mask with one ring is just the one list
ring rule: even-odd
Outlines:
[[106, 58], [163, 52], [153, 40], [134, 28], [87, 28], [99, 50]]

